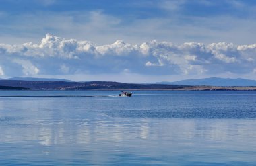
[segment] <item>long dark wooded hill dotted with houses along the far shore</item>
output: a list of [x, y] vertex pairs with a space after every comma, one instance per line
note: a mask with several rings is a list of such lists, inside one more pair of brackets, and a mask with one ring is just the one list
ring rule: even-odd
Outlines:
[[0, 80], [0, 86], [25, 87], [34, 90], [89, 90], [89, 89], [179, 89], [184, 85], [136, 84], [109, 81], [67, 82], [67, 81], [23, 81]]

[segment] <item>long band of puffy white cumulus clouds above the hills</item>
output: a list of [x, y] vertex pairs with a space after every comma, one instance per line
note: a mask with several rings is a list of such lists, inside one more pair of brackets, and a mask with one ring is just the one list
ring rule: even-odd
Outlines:
[[255, 53], [256, 44], [186, 42], [177, 45], [152, 40], [137, 45], [117, 40], [97, 46], [90, 41], [46, 34], [39, 44], [0, 44], [0, 60], [4, 62], [0, 75], [12, 73], [16, 65], [22, 67], [23, 75], [94, 75], [123, 71], [141, 75], [253, 73]]

